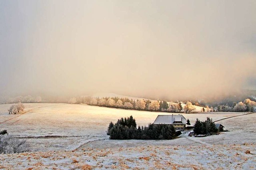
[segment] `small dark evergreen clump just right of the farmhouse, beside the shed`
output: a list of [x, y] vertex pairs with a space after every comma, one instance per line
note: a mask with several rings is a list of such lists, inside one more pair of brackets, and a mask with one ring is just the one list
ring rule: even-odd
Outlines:
[[208, 134], [208, 133], [216, 133], [218, 130], [215, 127], [215, 123], [207, 117], [205, 121], [200, 121], [196, 119], [196, 123], [194, 125], [194, 133], [197, 135]]

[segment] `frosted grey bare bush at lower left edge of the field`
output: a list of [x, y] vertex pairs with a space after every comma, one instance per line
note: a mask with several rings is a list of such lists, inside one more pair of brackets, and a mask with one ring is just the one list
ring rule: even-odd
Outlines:
[[26, 140], [15, 139], [12, 135], [0, 135], [0, 154], [28, 152], [29, 148]]

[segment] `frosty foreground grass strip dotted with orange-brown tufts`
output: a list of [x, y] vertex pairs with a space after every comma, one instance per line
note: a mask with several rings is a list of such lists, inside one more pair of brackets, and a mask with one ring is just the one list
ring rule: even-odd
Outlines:
[[[255, 144], [140, 146], [0, 155], [6, 169], [254, 169]], [[252, 154], [246, 154], [250, 150]]]

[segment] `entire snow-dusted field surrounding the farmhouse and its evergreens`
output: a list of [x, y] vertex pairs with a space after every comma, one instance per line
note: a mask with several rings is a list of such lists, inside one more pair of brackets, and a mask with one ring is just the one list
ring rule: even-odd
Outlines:
[[[182, 114], [193, 124], [211, 117], [230, 132], [174, 140], [109, 140], [110, 121], [132, 115], [137, 125], [153, 123], [163, 112], [134, 111], [78, 104], [24, 104], [8, 115], [0, 105], [0, 130], [26, 139], [30, 153], [1, 154], [0, 169], [255, 169], [256, 113]], [[174, 113], [175, 114], [175, 113]], [[250, 150], [250, 154], [245, 151]]]

